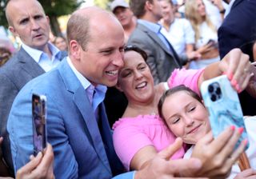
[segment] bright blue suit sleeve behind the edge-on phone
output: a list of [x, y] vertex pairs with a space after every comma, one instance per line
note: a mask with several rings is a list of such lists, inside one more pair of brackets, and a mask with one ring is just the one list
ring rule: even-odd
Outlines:
[[[22, 89], [15, 98], [7, 124], [15, 173], [30, 161], [29, 157], [34, 153], [31, 112], [31, 97], [34, 91], [27, 89]], [[40, 91], [35, 93], [40, 93]], [[57, 178], [78, 178], [78, 163], [65, 132], [62, 113], [58, 110], [59, 104], [50, 99], [49, 94], [46, 96], [46, 126], [50, 129], [47, 131], [47, 139], [54, 146], [54, 175]], [[55, 166], [58, 166], [58, 169]]]

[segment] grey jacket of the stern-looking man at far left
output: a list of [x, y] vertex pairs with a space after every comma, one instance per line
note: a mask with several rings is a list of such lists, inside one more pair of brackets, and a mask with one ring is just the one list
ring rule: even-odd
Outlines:
[[[62, 58], [65, 56], [66, 52], [63, 52]], [[0, 68], [0, 136], [4, 137], [2, 153], [6, 164], [10, 167], [10, 173], [14, 173], [14, 168], [6, 123], [11, 105], [18, 92], [27, 82], [44, 73], [42, 67], [23, 48]]]

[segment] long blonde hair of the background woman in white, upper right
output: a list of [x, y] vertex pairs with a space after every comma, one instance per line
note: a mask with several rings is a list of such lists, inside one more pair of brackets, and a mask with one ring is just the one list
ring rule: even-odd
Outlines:
[[190, 21], [191, 26], [193, 27], [194, 34], [195, 34], [195, 41], [198, 41], [198, 39], [200, 38], [201, 32], [200, 32], [199, 27], [202, 24], [202, 22], [206, 22], [207, 26], [209, 26], [211, 30], [213, 30], [214, 32], [217, 32], [216, 27], [210, 21], [210, 18], [207, 14], [203, 17], [200, 14], [198, 14], [197, 0], [187, 0], [186, 1], [185, 16]]

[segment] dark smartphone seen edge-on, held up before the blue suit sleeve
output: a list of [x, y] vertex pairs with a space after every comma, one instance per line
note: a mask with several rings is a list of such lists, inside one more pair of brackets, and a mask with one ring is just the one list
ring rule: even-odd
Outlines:
[[32, 125], [34, 156], [46, 148], [46, 96], [32, 94]]

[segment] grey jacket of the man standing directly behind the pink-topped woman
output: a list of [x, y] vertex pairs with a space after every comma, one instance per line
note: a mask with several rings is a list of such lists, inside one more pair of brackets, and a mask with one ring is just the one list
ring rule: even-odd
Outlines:
[[138, 23], [127, 44], [146, 51], [146, 62], [150, 66], [155, 85], [166, 82], [175, 68], [182, 67], [178, 55], [172, 54], [158, 35], [142, 24]]

